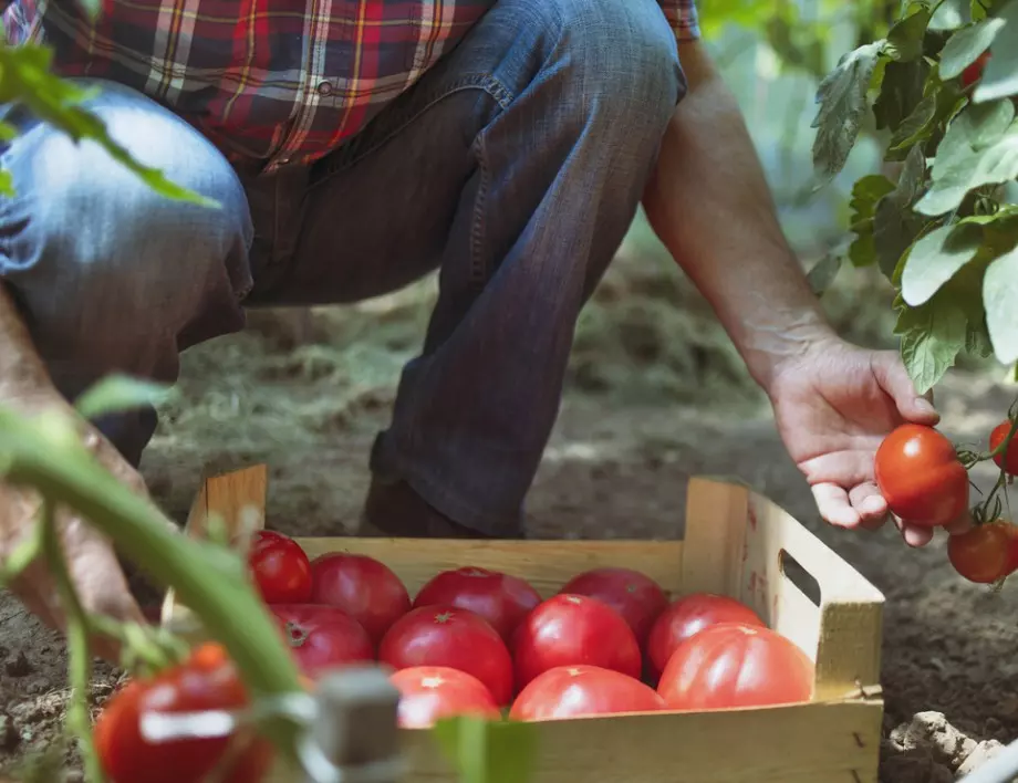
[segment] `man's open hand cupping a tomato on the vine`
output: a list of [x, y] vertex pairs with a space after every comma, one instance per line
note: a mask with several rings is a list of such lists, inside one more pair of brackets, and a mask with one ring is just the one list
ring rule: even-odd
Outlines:
[[[901, 424], [939, 419], [933, 404], [916, 394], [898, 355], [832, 338], [785, 363], [768, 392], [778, 430], [820, 515], [840, 528], [882, 525], [889, 509], [873, 478], [877, 447]], [[933, 537], [929, 529], [895, 522], [912, 546]], [[959, 520], [952, 530], [967, 524]]]

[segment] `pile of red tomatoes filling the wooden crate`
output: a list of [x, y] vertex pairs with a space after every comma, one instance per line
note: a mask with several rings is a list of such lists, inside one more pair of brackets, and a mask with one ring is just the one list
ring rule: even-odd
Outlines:
[[384, 563], [262, 531], [254, 582], [304, 675], [377, 660], [395, 674], [399, 724], [480, 714], [548, 720], [804, 701], [813, 667], [731, 598], [669, 604], [626, 568], [580, 574], [542, 599], [528, 582], [479, 567], [436, 574], [411, 597]]

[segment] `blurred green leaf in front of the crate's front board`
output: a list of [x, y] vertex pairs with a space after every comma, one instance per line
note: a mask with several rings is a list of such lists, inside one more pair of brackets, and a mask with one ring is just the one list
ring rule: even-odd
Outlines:
[[528, 783], [534, 775], [538, 735], [533, 723], [461, 716], [439, 721], [432, 733], [459, 783]]

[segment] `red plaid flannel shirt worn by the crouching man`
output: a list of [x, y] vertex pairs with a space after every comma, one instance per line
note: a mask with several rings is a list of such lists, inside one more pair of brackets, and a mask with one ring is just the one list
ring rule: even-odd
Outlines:
[[[629, 2], [630, 0], [616, 0]], [[169, 106], [232, 160], [310, 163], [356, 134], [497, 0], [10, 0], [9, 43]], [[658, 0], [679, 40], [695, 0]]]

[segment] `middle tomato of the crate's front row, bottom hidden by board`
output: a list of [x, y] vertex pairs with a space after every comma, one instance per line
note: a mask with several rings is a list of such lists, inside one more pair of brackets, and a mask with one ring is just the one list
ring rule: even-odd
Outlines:
[[663, 710], [664, 699], [637, 679], [600, 666], [558, 666], [516, 697], [510, 720], [561, 720]]

